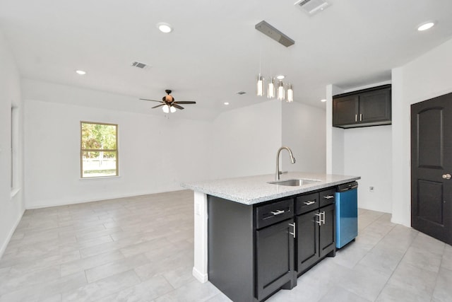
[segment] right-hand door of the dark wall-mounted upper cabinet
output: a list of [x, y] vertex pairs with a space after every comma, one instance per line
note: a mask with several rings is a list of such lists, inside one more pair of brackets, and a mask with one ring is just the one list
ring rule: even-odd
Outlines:
[[369, 91], [359, 95], [359, 122], [391, 120], [391, 90]]

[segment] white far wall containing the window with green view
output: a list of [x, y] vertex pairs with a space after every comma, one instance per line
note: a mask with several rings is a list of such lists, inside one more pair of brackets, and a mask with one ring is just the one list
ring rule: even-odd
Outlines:
[[[180, 182], [208, 178], [209, 122], [47, 102], [109, 94], [41, 82], [35, 99], [35, 86], [23, 81], [28, 209], [182, 190]], [[81, 120], [119, 124], [118, 178], [80, 179]]]

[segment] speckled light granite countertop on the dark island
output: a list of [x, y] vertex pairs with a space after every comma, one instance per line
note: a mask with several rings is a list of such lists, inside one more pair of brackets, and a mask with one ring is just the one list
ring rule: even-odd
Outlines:
[[256, 175], [244, 178], [227, 178], [222, 180], [206, 180], [198, 182], [184, 182], [185, 187], [196, 192], [221, 197], [241, 204], [258, 204], [272, 199], [278, 199], [299, 193], [333, 187], [346, 182], [359, 180], [359, 176], [332, 175], [319, 173], [290, 172], [280, 176], [280, 180], [303, 178], [306, 180], [320, 180], [300, 187], [272, 185], [267, 182], [275, 181], [274, 174]]

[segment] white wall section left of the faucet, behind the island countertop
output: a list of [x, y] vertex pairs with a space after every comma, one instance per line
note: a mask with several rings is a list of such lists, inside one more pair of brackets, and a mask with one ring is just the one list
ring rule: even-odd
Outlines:
[[210, 139], [211, 178], [274, 173], [282, 144], [281, 103], [266, 100], [222, 112], [213, 121]]

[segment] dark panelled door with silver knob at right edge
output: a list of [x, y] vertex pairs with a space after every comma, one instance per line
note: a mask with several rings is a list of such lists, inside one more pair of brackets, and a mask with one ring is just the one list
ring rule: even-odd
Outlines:
[[452, 244], [452, 93], [411, 105], [411, 225]]

